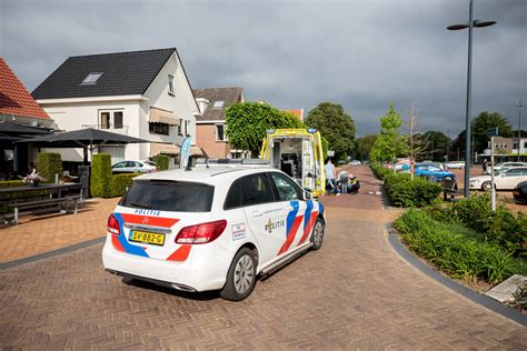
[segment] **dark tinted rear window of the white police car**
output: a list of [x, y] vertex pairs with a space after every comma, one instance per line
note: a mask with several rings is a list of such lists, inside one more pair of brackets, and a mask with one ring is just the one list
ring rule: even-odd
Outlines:
[[215, 188], [178, 181], [136, 181], [119, 202], [133, 209], [210, 212]]

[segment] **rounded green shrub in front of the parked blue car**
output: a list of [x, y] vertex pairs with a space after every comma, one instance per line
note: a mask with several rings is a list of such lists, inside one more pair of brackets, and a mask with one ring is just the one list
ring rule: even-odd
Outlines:
[[441, 193], [443, 187], [424, 178], [409, 174], [389, 174], [385, 177], [385, 190], [394, 205], [426, 207]]

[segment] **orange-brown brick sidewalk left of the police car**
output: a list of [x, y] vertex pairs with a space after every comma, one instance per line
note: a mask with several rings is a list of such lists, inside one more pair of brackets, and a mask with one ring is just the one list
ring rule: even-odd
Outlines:
[[18, 225], [0, 227], [0, 263], [66, 248], [106, 235], [108, 215], [120, 198], [93, 199], [77, 214], [21, 217]]

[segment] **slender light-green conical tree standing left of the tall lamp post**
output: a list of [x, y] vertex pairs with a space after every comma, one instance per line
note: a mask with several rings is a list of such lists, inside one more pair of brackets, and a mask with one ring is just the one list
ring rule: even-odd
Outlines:
[[401, 126], [400, 113], [396, 112], [391, 103], [388, 112], [380, 118], [380, 134], [371, 149], [371, 160], [395, 161], [397, 157], [407, 153], [406, 138], [399, 133]]

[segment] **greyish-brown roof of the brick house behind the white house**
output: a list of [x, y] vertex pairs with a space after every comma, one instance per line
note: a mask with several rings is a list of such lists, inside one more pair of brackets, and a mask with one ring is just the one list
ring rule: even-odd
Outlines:
[[[196, 99], [203, 98], [209, 100], [209, 104], [203, 112], [203, 116], [196, 117], [196, 121], [223, 121], [225, 110], [232, 103], [241, 102], [242, 90], [240, 87], [233, 88], [208, 88], [193, 89]], [[215, 108], [216, 101], [223, 101], [223, 107]]]

